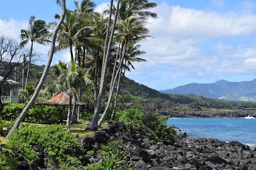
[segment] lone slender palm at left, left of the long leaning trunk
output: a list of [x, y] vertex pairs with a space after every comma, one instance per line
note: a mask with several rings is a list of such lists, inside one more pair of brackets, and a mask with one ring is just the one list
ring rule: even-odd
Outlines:
[[33, 43], [39, 43], [42, 45], [46, 45], [50, 43], [49, 40], [49, 31], [46, 27], [46, 23], [43, 20], [36, 20], [35, 16], [30, 16], [29, 23], [28, 23], [28, 30], [20, 30], [20, 38], [22, 42], [20, 42], [21, 47], [24, 47], [29, 42], [30, 45], [30, 52], [29, 52], [29, 62], [28, 62], [28, 71], [26, 77], [25, 87], [28, 85], [28, 77], [30, 72], [30, 64], [32, 58], [32, 51], [33, 51]]

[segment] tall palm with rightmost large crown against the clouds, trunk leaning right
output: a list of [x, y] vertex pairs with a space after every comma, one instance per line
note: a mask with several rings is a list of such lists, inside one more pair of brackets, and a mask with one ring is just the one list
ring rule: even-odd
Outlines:
[[[104, 113], [102, 114], [102, 117], [98, 121], [98, 126], [100, 126], [107, 117], [117, 77], [118, 75], [120, 77], [122, 74], [122, 67], [127, 44], [131, 40], [140, 42], [150, 37], [147, 35], [149, 32], [148, 29], [144, 26], [148, 17], [156, 18], [157, 15], [154, 12], [148, 12], [145, 10], [148, 8], [153, 8], [156, 5], [157, 4], [155, 2], [148, 2], [147, 0], [121, 0], [120, 10], [114, 11], [116, 14], [118, 13], [117, 25], [119, 32], [117, 33], [116, 37], [120, 39], [122, 46], [120, 50], [121, 53], [116, 75], [112, 76], [108, 103]], [[120, 83], [120, 81], [118, 83]]]

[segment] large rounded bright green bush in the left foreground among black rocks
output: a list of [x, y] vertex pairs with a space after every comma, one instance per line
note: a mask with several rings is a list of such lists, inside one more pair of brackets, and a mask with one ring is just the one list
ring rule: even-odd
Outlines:
[[8, 147], [17, 147], [27, 162], [37, 163], [39, 158], [32, 149], [34, 145], [42, 147], [50, 166], [60, 165], [60, 168], [80, 164], [78, 157], [84, 151], [78, 140], [64, 130], [63, 125], [25, 126], [14, 130], [6, 144]]

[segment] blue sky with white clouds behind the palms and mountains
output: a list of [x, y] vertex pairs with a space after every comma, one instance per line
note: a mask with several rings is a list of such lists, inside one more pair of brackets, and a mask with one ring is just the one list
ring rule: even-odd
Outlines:
[[[78, 0], [80, 2], [80, 0]], [[110, 0], [94, 0], [102, 12]], [[147, 62], [133, 63], [126, 76], [156, 90], [172, 89], [188, 83], [232, 82], [256, 78], [256, 1], [254, 0], [154, 0], [157, 19], [147, 28], [154, 37], [140, 43]], [[68, 9], [74, 1], [66, 0]], [[54, 21], [61, 9], [54, 0], [9, 0], [1, 2], [0, 35], [20, 41], [20, 30], [28, 28], [31, 15]], [[43, 54], [49, 47], [34, 45]], [[52, 64], [68, 62], [68, 51], [54, 54]]]

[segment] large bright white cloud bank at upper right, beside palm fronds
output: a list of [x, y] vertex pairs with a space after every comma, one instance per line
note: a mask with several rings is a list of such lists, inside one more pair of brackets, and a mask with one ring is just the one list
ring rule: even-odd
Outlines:
[[158, 6], [158, 20], [150, 19], [148, 27], [155, 35], [169, 35], [171, 38], [220, 38], [248, 36], [256, 33], [256, 14], [195, 10], [180, 6]]

